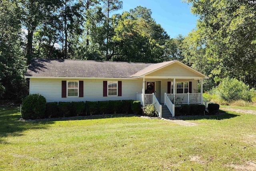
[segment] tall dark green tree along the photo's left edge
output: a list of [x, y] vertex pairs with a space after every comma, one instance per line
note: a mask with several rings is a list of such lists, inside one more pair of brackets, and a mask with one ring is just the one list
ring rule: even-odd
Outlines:
[[0, 2], [0, 98], [20, 99], [26, 94], [26, 59], [20, 35], [21, 9], [16, 1]]

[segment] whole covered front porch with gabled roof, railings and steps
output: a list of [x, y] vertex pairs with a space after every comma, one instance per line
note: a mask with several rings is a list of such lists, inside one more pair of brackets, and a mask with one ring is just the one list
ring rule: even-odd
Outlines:
[[154, 104], [159, 117], [164, 115], [163, 111], [175, 116], [175, 106], [181, 104], [208, 106], [203, 98], [203, 79], [208, 77], [180, 61], [154, 64], [132, 77], [142, 80], [142, 92], [137, 93], [137, 100], [143, 106]]

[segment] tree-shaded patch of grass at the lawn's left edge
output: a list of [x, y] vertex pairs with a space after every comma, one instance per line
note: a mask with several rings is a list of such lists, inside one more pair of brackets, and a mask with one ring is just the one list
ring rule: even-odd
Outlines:
[[8, 136], [22, 136], [22, 132], [32, 129], [47, 129], [49, 124], [54, 122], [20, 122], [20, 108], [1, 106], [0, 107], [0, 143]]

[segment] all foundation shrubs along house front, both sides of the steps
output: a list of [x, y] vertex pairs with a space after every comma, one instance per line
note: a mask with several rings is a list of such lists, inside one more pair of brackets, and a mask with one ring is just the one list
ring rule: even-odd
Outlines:
[[[220, 105], [208, 104], [209, 114], [218, 112]], [[204, 115], [205, 106], [201, 104], [182, 105], [175, 108], [175, 116]], [[156, 116], [153, 105], [144, 109], [147, 116]], [[96, 102], [48, 102], [40, 94], [30, 94], [22, 102], [21, 115], [24, 119], [58, 118], [88, 116], [97, 114], [142, 114], [140, 101], [110, 100]], [[206, 113], [207, 114], [207, 113]]]

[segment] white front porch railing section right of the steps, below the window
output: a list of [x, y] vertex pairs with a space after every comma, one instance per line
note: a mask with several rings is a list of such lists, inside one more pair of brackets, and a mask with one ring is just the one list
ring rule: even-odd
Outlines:
[[201, 93], [166, 94], [173, 104], [200, 104]]

